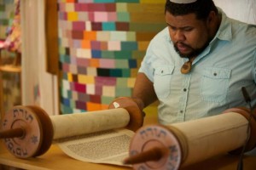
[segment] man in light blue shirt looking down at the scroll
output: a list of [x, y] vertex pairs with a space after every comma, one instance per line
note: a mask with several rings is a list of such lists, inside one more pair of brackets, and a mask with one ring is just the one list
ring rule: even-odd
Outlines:
[[231, 20], [212, 0], [166, 0], [166, 29], [148, 45], [133, 98], [159, 100], [161, 124], [256, 104], [256, 26]]

